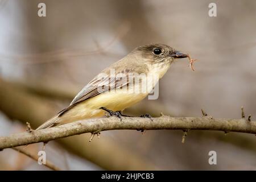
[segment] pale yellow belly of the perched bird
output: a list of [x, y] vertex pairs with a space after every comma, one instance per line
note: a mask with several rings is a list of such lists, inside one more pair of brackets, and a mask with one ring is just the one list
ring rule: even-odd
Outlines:
[[81, 119], [101, 117], [105, 111], [100, 107], [106, 107], [113, 111], [119, 111], [143, 100], [148, 93], [123, 93], [119, 90], [106, 92], [80, 102], [71, 110], [60, 117], [60, 123], [69, 123]]

